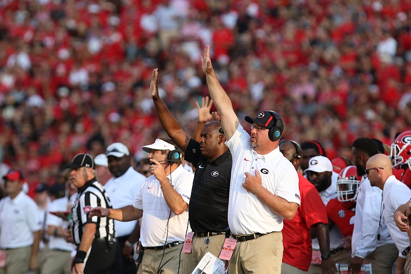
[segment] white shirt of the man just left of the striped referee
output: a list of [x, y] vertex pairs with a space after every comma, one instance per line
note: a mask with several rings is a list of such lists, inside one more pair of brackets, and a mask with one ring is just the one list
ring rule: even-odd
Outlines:
[[[68, 210], [68, 198], [63, 197], [59, 199], [55, 199], [49, 203], [47, 207], [48, 212], [55, 212], [55, 211], [67, 211]], [[46, 227], [47, 226], [55, 226], [55, 227], [62, 227], [63, 229], [67, 229], [68, 221], [64, 221], [62, 218], [55, 216], [53, 214], [47, 213], [46, 217]], [[74, 249], [73, 244], [67, 243], [63, 237], [61, 236], [49, 236], [48, 246], [50, 249], [60, 249], [66, 251], [72, 251]]]

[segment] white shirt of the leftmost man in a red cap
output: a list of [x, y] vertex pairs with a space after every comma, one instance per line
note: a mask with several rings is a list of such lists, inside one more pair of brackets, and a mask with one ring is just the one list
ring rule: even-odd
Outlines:
[[23, 191], [14, 199], [0, 200], [0, 248], [21, 248], [33, 244], [33, 232], [42, 227], [39, 207]]

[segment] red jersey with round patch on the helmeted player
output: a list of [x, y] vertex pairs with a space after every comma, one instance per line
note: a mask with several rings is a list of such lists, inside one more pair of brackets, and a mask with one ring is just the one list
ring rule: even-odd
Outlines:
[[[355, 207], [353, 207], [355, 209]], [[341, 230], [344, 237], [351, 236], [354, 229], [354, 213], [337, 198], [331, 199], [325, 207], [328, 217]]]

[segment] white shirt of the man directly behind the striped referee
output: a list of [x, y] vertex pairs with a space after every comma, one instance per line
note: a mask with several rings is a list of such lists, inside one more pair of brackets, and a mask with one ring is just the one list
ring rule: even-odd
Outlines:
[[[104, 189], [110, 198], [113, 208], [131, 205], [140, 193], [141, 186], [145, 179], [146, 177], [133, 169], [133, 167], [129, 167], [128, 170], [118, 178], [114, 176], [111, 177], [104, 185]], [[137, 220], [130, 222], [115, 220], [116, 235], [122, 237], [131, 234], [136, 223]]]

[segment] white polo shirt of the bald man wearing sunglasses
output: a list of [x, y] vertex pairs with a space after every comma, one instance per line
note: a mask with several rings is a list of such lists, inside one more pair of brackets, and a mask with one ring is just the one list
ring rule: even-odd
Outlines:
[[394, 221], [394, 212], [399, 206], [408, 202], [411, 198], [411, 189], [394, 175], [387, 178], [382, 192], [383, 212], [388, 231], [399, 250], [399, 256], [405, 258], [401, 252], [409, 246], [409, 238], [406, 232], [401, 232]]

